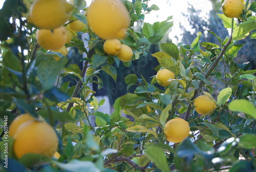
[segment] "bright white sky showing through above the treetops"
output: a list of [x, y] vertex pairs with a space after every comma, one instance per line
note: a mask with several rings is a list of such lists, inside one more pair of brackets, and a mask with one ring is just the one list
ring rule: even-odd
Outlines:
[[[86, 2], [90, 5], [92, 0], [87, 0]], [[168, 16], [173, 15], [174, 26], [172, 27], [171, 32], [168, 33], [168, 36], [173, 42], [177, 43], [178, 40], [175, 36], [178, 36], [179, 38], [182, 36], [182, 31], [180, 30], [179, 25], [181, 24], [189, 30], [189, 23], [187, 19], [182, 16], [182, 13], [187, 13], [187, 2], [193, 5], [195, 9], [202, 10], [202, 16], [207, 17], [207, 12], [211, 10], [211, 4], [208, 0], [150, 0], [148, 6], [155, 4], [160, 10], [151, 11], [149, 14], [146, 14], [144, 22], [150, 24], [162, 22], [163, 20], [166, 20]], [[3, 6], [3, 3], [4, 0], [0, 0], [0, 9]]]

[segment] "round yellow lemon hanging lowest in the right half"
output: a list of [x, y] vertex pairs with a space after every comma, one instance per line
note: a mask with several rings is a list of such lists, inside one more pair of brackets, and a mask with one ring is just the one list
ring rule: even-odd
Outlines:
[[165, 124], [164, 134], [169, 142], [179, 143], [189, 135], [190, 127], [182, 118], [173, 118]]

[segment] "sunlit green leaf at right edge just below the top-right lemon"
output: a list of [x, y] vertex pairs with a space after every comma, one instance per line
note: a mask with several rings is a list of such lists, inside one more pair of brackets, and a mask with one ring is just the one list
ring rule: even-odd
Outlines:
[[232, 40], [241, 40], [249, 35], [249, 32], [256, 29], [256, 16], [248, 17], [245, 23], [240, 24], [234, 29], [232, 34]]

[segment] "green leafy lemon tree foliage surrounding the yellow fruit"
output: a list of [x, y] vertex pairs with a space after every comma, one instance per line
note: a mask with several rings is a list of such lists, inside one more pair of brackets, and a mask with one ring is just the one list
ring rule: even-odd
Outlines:
[[[6, 0], [0, 11], [0, 21], [8, 21], [0, 25], [0, 32], [5, 33], [0, 37], [1, 171], [255, 171], [256, 69], [250, 69], [249, 63], [235, 61], [244, 46], [239, 40], [255, 39], [255, 2], [246, 1], [238, 20], [219, 15], [223, 27], [230, 26], [231, 34], [222, 36], [209, 30], [218, 42], [204, 40], [203, 29], [194, 35], [193, 41], [161, 43], [160, 51], [152, 54], [158, 61], [154, 70], [166, 68], [175, 73], [176, 79], [163, 89], [156, 76], [144, 77], [146, 73], [136, 75], [132, 70], [131, 74], [123, 73], [125, 85], [116, 82], [116, 89], [135, 89], [115, 99], [112, 114], [98, 111], [104, 100], [98, 101], [88, 84], [104, 87], [100, 72], [117, 81], [120, 64], [131, 68], [132, 62], [144, 58], [145, 49], [157, 45], [172, 27], [172, 17], [154, 24], [143, 23], [146, 13], [158, 7], [148, 6], [147, 0], [122, 0], [130, 12], [131, 24], [121, 41], [135, 54], [132, 61], [122, 62], [104, 53], [104, 40], [87, 25], [86, 16], [81, 14], [81, 10], [87, 11], [86, 1], [74, 1], [71, 21], [78, 19], [86, 27], [73, 32], [66, 46], [87, 54], [80, 59], [81, 70], [71, 62], [73, 50], [63, 56], [38, 46], [37, 28], [28, 24], [26, 10], [17, 11], [26, 9], [24, 3], [28, 2]], [[10, 4], [13, 10], [9, 9]], [[142, 23], [140, 30], [133, 27], [137, 22]], [[87, 47], [79, 37], [81, 33], [90, 36]], [[224, 72], [218, 68], [220, 63]], [[63, 82], [66, 76], [76, 84]], [[202, 94], [211, 97], [218, 90], [217, 83], [225, 85], [215, 99], [217, 108], [210, 115], [199, 115], [194, 99]], [[133, 120], [121, 116], [121, 112]], [[45, 119], [55, 128], [60, 157], [15, 157], [15, 140], [7, 137], [6, 126], [23, 113]], [[90, 116], [95, 120], [90, 120]], [[190, 134], [173, 144], [165, 138], [165, 123], [177, 117], [188, 121]], [[8, 168], [4, 159], [6, 142]]]

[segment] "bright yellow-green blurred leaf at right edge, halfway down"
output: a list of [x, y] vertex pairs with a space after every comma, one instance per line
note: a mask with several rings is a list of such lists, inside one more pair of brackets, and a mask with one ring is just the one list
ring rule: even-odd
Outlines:
[[230, 111], [245, 113], [256, 119], [256, 107], [253, 104], [251, 104], [251, 102], [249, 102], [248, 100], [233, 100], [228, 104], [228, 109]]

